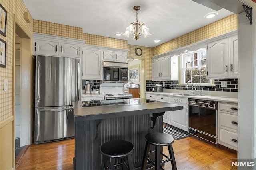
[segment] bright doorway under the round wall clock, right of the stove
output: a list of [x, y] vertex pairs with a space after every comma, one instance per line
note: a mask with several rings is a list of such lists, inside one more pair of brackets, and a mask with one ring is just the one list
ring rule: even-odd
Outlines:
[[[128, 59], [128, 67], [129, 67], [129, 81], [128, 84], [132, 87], [132, 84], [138, 84], [138, 89], [129, 89], [130, 93], [133, 93], [134, 98], [145, 98], [145, 89], [146, 82], [144, 76], [144, 60], [142, 59]], [[126, 88], [128, 88], [128, 84], [126, 84]], [[138, 97], [135, 97], [138, 96]]]

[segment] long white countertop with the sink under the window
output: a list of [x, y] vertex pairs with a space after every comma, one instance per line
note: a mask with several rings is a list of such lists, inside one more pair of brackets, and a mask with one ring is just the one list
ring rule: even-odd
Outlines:
[[[218, 101], [218, 102], [232, 102], [232, 103], [237, 103], [238, 102], [237, 98], [226, 97], [226, 96], [212, 96], [212, 95], [182, 96], [182, 95], [178, 95], [178, 93], [175, 94], [175, 92], [145, 92], [145, 93], [154, 94], [154, 95], [175, 96], [175, 97], [181, 97], [181, 98], [215, 100], [215, 101]], [[187, 93], [187, 94], [189, 94], [189, 93]]]

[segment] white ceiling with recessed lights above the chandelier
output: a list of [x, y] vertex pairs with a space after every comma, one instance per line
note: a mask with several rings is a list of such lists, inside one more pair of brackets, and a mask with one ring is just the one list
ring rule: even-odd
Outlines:
[[[82, 27], [84, 33], [127, 40], [128, 44], [155, 47], [171, 39], [194, 31], [233, 14], [221, 9], [214, 11], [192, 0], [23, 0], [33, 19]], [[126, 27], [136, 22], [134, 6], [140, 6], [138, 22], [149, 29], [150, 37], [133, 40], [124, 33]], [[211, 19], [210, 12], [218, 15]], [[154, 43], [155, 39], [161, 40]]]

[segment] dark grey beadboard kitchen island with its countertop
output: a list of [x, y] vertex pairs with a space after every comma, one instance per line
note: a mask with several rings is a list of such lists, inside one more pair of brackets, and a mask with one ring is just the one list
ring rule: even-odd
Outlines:
[[95, 107], [82, 107], [82, 102], [73, 102], [76, 170], [100, 170], [100, 146], [116, 139], [133, 143], [134, 169], [139, 169], [146, 143], [144, 136], [150, 132], [162, 132], [165, 111], [183, 109], [180, 105], [146, 99], [109, 101], [103, 100], [100, 102], [102, 106]]

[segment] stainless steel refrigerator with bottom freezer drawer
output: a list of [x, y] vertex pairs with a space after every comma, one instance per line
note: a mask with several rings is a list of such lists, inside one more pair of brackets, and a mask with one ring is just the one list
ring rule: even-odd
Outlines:
[[35, 144], [74, 137], [81, 59], [36, 55], [35, 62]]

